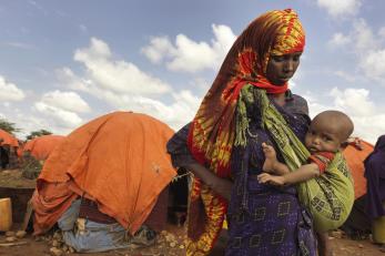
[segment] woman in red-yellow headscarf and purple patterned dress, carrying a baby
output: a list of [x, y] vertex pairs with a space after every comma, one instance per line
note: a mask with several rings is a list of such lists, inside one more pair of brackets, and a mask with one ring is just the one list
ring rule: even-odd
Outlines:
[[193, 122], [169, 142], [173, 164], [195, 175], [188, 255], [209, 254], [225, 214], [226, 255], [315, 255], [312, 219], [295, 187], [255, 178], [264, 162], [262, 142], [277, 143], [273, 130], [262, 125], [261, 110], [273, 104], [301, 140], [307, 131], [307, 103], [287, 90], [304, 44], [293, 10], [255, 19], [227, 53]]

